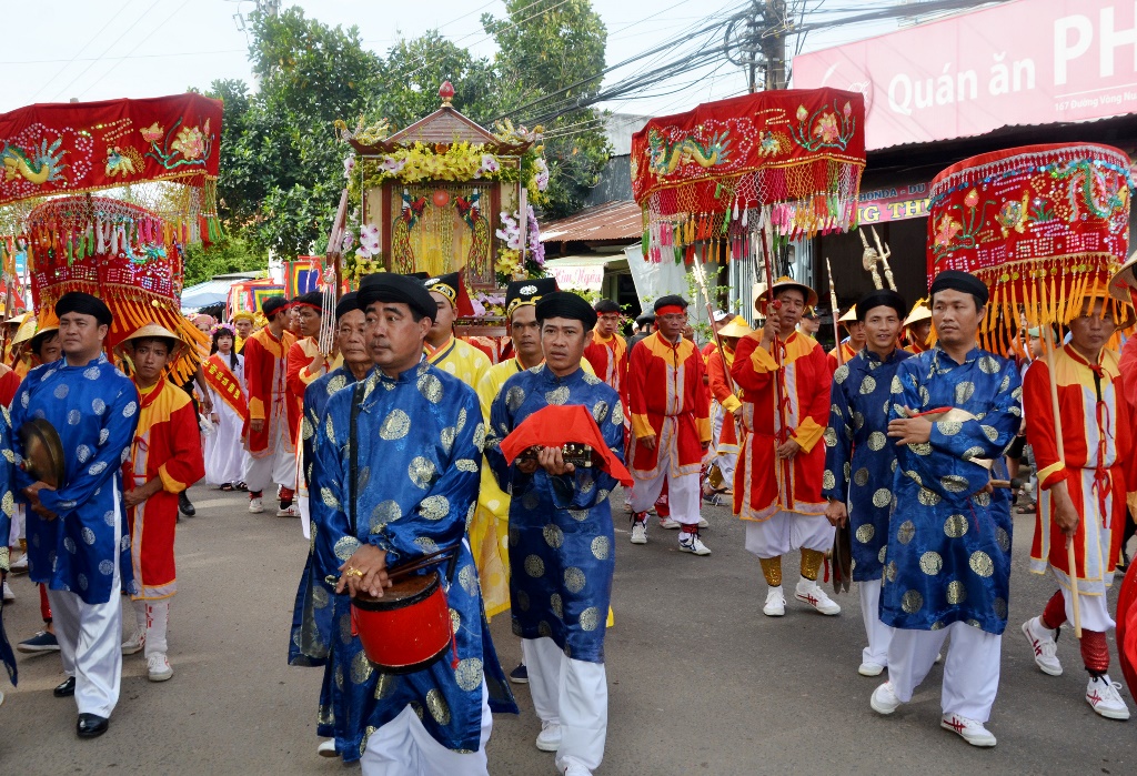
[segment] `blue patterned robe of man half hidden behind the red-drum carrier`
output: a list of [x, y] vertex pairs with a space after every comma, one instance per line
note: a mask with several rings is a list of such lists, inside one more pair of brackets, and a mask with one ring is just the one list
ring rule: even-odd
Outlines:
[[[315, 464], [314, 443], [316, 427], [324, 417], [327, 400], [332, 394], [356, 378], [350, 369], [340, 367], [314, 379], [304, 392], [304, 420], [300, 436], [304, 442], [304, 476], [312, 482], [312, 469]], [[290, 666], [324, 666], [324, 681], [319, 686], [319, 711], [316, 717], [316, 735], [331, 737], [333, 735], [334, 715], [332, 711], [332, 669], [327, 659], [334, 645], [335, 623], [332, 619], [333, 607], [329, 606], [335, 596], [335, 585], [329, 584], [324, 577], [316, 574], [316, 540], [313, 536], [308, 545], [308, 560], [300, 575], [300, 584], [296, 591], [296, 606], [292, 610], [292, 632], [288, 644], [288, 664]], [[347, 596], [345, 596], [347, 599]], [[350, 603], [349, 600], [341, 602]]]

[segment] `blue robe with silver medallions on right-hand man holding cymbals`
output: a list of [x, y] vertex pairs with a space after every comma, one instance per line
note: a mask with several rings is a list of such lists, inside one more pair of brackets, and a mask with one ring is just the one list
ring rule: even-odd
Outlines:
[[991, 473], [972, 459], [998, 459], [1019, 432], [1019, 370], [978, 348], [956, 364], [936, 347], [897, 367], [891, 392], [890, 418], [902, 417], [901, 407], [957, 407], [977, 419], [936, 422], [928, 443], [897, 449], [880, 618], [914, 631], [964, 621], [1001, 634], [1010, 600], [1011, 494], [979, 493]]

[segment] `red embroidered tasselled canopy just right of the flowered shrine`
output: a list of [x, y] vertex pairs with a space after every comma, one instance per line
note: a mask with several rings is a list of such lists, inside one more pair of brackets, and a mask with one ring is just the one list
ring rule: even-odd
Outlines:
[[631, 156], [646, 248], [722, 240], [750, 208], [769, 208], [786, 236], [847, 230], [865, 165], [864, 98], [816, 89], [707, 102], [653, 118]]

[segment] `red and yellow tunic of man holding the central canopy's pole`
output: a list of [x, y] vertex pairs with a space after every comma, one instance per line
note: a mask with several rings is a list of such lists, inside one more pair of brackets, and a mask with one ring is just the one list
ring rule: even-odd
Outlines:
[[[815, 340], [794, 332], [783, 343], [781, 367], [762, 347], [760, 334], [742, 337], [730, 374], [742, 390], [742, 451], [735, 470], [735, 514], [744, 520], [764, 521], [779, 511], [815, 515], [825, 511], [821, 481], [825, 445], [820, 444], [829, 423], [829, 358]], [[785, 401], [777, 407], [774, 377]], [[774, 450], [794, 439], [802, 450], [778, 460]]]

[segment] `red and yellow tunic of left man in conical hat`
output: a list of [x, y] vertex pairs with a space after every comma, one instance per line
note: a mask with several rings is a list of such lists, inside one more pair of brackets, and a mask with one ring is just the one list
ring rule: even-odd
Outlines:
[[140, 487], [161, 479], [161, 490], [126, 510], [131, 562], [139, 592], [135, 599], [169, 598], [177, 590], [174, 568], [174, 526], [177, 494], [206, 474], [201, 434], [190, 395], [165, 378], [139, 389], [139, 426], [131, 460], [123, 466], [123, 486]]

